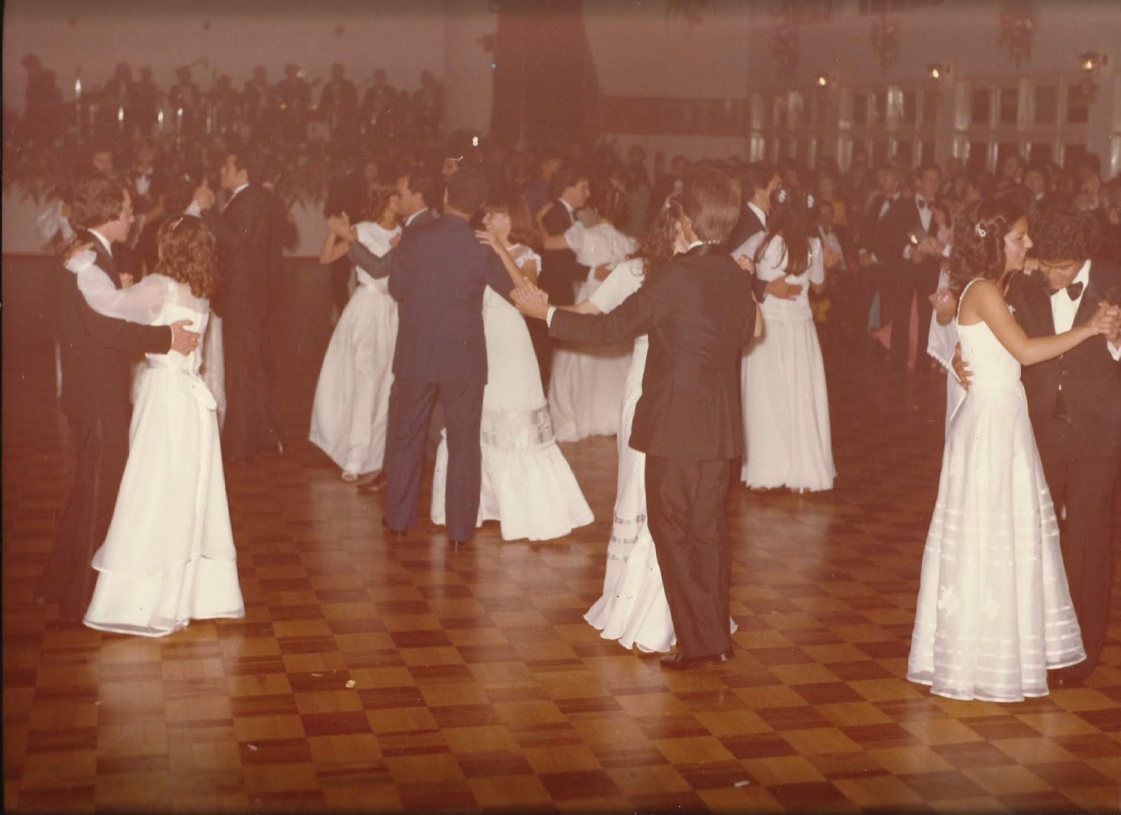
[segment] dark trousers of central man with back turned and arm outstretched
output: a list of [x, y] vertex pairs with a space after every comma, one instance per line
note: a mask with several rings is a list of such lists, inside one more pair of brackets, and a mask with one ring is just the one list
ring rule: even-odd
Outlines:
[[732, 647], [730, 462], [646, 456], [647, 519], [683, 657]]

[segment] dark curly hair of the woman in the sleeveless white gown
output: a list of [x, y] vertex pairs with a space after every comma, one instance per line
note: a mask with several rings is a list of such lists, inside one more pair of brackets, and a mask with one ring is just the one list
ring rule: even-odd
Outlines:
[[975, 277], [999, 280], [1004, 275], [1004, 237], [1027, 217], [1012, 198], [984, 198], [954, 221], [949, 252], [949, 288], [960, 295]]

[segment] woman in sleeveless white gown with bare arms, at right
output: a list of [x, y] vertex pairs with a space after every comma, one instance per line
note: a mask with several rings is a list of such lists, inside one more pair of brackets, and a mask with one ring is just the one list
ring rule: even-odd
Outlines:
[[955, 224], [951, 285], [972, 377], [946, 435], [907, 665], [951, 698], [1045, 696], [1049, 668], [1085, 658], [1020, 365], [1110, 328], [1099, 308], [1057, 336], [1023, 333], [1003, 290], [1030, 248], [1010, 201], [982, 201]]

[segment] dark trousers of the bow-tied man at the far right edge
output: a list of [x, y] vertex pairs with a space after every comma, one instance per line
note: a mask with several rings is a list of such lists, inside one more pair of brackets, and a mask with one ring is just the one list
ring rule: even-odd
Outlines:
[[1063, 566], [1086, 649], [1086, 661], [1073, 670], [1088, 675], [1102, 656], [1110, 620], [1110, 527], [1121, 450], [1104, 439], [1080, 438], [1068, 422], [1056, 418], [1037, 425], [1036, 436], [1047, 488], [1060, 519]]

